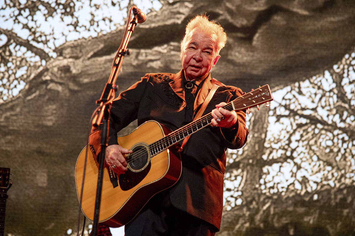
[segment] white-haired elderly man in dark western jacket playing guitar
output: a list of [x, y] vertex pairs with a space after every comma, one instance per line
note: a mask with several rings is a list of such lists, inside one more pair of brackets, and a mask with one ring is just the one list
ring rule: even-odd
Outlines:
[[248, 136], [245, 112], [222, 108], [242, 91], [223, 85], [209, 73], [225, 42], [226, 34], [219, 24], [196, 16], [187, 24], [181, 43], [182, 70], [176, 74], [146, 74], [113, 102], [105, 162], [117, 174], [124, 174], [125, 156], [132, 150], [117, 143], [118, 131], [135, 119], [138, 125], [155, 120], [174, 131], [193, 120], [213, 84], [219, 85], [204, 111], [212, 111], [211, 125], [192, 134], [182, 148], [178, 182], [149, 200], [125, 225], [126, 236], [205, 236], [219, 231], [225, 150], [241, 148]]

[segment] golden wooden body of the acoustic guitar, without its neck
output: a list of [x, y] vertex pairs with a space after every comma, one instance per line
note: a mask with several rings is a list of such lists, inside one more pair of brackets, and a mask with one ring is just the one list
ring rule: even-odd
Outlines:
[[[97, 135], [99, 131], [95, 132], [93, 134]], [[126, 149], [133, 150], [133, 153], [127, 156], [127, 162], [130, 163], [129, 170], [125, 174], [117, 176], [106, 165], [104, 167], [100, 222], [110, 227], [127, 224], [152, 196], [178, 181], [181, 175], [181, 160], [180, 156], [176, 155], [175, 147], [166, 149], [153, 157], [149, 155], [149, 151], [145, 153], [146, 155], [137, 155], [137, 153], [141, 154], [142, 150], [143, 152], [146, 150], [147, 144], [163, 138], [170, 132], [170, 129], [156, 121], [147, 121], [131, 133], [118, 137], [118, 143]], [[83, 199], [80, 199], [86, 150], [86, 175]], [[90, 145], [88, 149], [84, 148], [75, 167], [78, 198], [81, 201], [84, 215], [90, 220], [94, 219], [99, 167], [96, 161], [98, 152], [99, 148], [95, 145]]]

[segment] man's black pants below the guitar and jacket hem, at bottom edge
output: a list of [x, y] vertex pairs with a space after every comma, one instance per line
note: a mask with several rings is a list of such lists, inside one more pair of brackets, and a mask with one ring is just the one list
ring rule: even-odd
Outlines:
[[171, 206], [168, 197], [154, 196], [125, 225], [125, 236], [214, 236], [215, 229], [206, 221]]

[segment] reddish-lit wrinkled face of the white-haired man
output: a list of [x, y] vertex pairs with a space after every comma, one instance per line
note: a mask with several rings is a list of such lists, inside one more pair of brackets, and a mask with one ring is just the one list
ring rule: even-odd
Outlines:
[[207, 35], [200, 30], [193, 30], [186, 35], [181, 51], [181, 64], [187, 80], [206, 75], [219, 59], [214, 35]]

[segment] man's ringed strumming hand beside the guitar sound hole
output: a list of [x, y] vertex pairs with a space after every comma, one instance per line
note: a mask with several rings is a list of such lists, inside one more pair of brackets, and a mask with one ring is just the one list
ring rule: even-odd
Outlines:
[[110, 145], [105, 151], [105, 162], [115, 173], [124, 174], [127, 171], [126, 154], [129, 153], [132, 153], [132, 150], [120, 145]]

